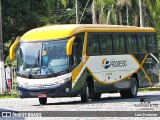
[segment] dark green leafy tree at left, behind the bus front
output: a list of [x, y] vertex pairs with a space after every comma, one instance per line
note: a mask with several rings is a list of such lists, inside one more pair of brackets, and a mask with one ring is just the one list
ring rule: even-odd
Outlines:
[[[3, 0], [2, 1], [2, 28], [4, 43], [14, 42], [17, 36], [35, 27], [43, 26], [49, 19], [52, 2], [49, 0]], [[4, 46], [5, 58], [8, 49]]]

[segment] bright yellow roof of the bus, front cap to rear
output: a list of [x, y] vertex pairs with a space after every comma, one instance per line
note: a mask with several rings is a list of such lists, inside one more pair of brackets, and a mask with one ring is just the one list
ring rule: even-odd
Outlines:
[[21, 40], [22, 41], [56, 40], [60, 38], [71, 37], [81, 32], [155, 32], [155, 29], [150, 27], [102, 25], [102, 24], [52, 25], [30, 30], [21, 37]]

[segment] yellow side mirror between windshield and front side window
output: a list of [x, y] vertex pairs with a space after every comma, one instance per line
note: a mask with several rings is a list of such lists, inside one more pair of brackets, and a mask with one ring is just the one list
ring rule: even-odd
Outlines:
[[73, 36], [67, 42], [67, 47], [66, 47], [66, 54], [67, 55], [71, 55], [72, 54], [72, 46], [73, 46], [73, 42], [74, 42], [75, 38], [76, 37]]

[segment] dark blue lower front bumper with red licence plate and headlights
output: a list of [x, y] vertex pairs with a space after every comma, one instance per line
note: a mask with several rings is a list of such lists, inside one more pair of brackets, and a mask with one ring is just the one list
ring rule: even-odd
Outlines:
[[18, 86], [18, 93], [20, 98], [37, 98], [37, 97], [67, 97], [71, 94], [72, 84], [67, 81], [63, 84], [43, 88], [28, 88]]

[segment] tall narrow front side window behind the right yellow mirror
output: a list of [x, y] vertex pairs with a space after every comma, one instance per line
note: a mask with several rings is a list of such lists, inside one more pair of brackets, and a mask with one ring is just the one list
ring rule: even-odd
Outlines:
[[71, 55], [71, 69], [76, 68], [82, 60], [84, 34], [79, 34], [73, 42]]

